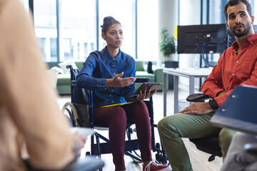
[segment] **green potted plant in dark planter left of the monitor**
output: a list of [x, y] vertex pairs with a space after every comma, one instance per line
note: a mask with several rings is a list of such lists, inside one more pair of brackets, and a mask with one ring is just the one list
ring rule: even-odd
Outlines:
[[[164, 61], [166, 68], [178, 68], [178, 61], [172, 61], [171, 55], [176, 53], [175, 39], [168, 34], [166, 28], [161, 29], [161, 43], [159, 43], [160, 51], [167, 58]], [[168, 89], [173, 89], [173, 76], [168, 77]]]

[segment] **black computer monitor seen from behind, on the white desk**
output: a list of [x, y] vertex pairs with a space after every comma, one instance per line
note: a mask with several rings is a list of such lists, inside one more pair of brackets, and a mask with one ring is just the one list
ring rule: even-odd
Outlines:
[[231, 45], [226, 24], [178, 26], [178, 53], [223, 53]]

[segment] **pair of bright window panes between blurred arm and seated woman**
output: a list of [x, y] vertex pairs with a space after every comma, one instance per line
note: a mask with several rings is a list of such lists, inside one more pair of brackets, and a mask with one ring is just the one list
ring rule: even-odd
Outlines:
[[[96, 0], [59, 0], [58, 4], [57, 25], [56, 1], [34, 0], [36, 37], [41, 43], [44, 61], [84, 60], [91, 50], [96, 50]], [[90, 51], [84, 50], [84, 43]]]

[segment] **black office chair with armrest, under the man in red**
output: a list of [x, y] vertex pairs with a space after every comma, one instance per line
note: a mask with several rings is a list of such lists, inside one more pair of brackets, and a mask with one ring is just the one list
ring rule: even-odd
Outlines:
[[[189, 102], [203, 102], [208, 98], [208, 95], [202, 93], [194, 93], [188, 95], [186, 100]], [[211, 154], [211, 156], [208, 158], [209, 162], [215, 160], [216, 156], [222, 157], [221, 147], [218, 145], [218, 134], [210, 135], [203, 138], [189, 138], [189, 140], [196, 145], [196, 148], [198, 150]]]

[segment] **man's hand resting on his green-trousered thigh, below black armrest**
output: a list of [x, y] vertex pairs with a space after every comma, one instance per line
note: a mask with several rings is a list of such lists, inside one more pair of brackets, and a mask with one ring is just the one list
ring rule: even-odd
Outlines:
[[213, 109], [208, 105], [208, 102], [196, 102], [181, 110], [179, 113], [203, 115], [211, 113], [212, 111]]

